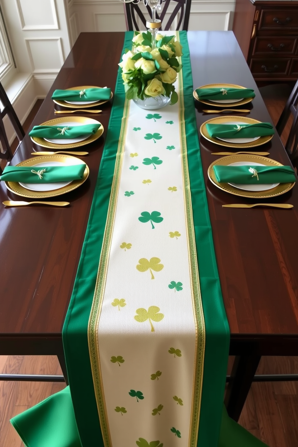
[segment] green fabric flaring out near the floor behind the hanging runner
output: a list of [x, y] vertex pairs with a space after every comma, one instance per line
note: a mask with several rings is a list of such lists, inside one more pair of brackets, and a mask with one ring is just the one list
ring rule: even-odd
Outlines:
[[[10, 422], [27, 447], [81, 447], [69, 387], [18, 414]], [[104, 446], [98, 442], [97, 447]], [[223, 405], [218, 447], [268, 446], [233, 421]]]

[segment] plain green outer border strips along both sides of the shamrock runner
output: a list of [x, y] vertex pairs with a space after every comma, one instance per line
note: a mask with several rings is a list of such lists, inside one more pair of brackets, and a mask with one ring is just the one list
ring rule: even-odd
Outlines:
[[[132, 38], [133, 32], [126, 32], [122, 54], [125, 48], [130, 48]], [[180, 31], [180, 42], [184, 52], [182, 63], [190, 190], [206, 325], [202, 411], [197, 446], [217, 447], [230, 338], [227, 317], [222, 303], [205, 184], [198, 152], [199, 141], [193, 105], [192, 73], [185, 31]], [[62, 332], [70, 388], [76, 390], [76, 392], [72, 392], [71, 398], [83, 447], [89, 447], [93, 443], [97, 447], [104, 447], [94, 396], [87, 328], [105, 232], [124, 102], [122, 77], [118, 73], [105, 148], [74, 289]], [[73, 374], [74, 371], [75, 374]]]

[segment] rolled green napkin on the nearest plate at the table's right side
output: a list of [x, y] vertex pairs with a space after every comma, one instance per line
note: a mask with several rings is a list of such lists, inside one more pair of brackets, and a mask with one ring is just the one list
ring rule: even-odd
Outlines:
[[[290, 183], [296, 181], [291, 166], [222, 166], [214, 165], [214, 174], [219, 183]], [[256, 175], [257, 174], [257, 175]]]

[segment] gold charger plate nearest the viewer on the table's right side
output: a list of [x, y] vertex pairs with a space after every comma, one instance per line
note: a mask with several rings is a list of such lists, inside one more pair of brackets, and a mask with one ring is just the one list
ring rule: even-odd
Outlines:
[[293, 188], [295, 185], [295, 182], [292, 183], [279, 183], [279, 185], [275, 186], [274, 188], [270, 190], [265, 191], [246, 191], [246, 190], [240, 190], [239, 188], [236, 188], [235, 186], [230, 185], [229, 183], [219, 183], [216, 180], [213, 166], [215, 164], [227, 166], [231, 163], [236, 163], [237, 161], [245, 161], [245, 162], [255, 162], [255, 163], [261, 163], [265, 166], [283, 166], [278, 161], [272, 160], [271, 158], [262, 157], [260, 155], [228, 155], [226, 157], [218, 158], [218, 160], [215, 160], [213, 163], [210, 164], [208, 168], [208, 177], [210, 181], [217, 186], [220, 190], [226, 191], [227, 193], [238, 195], [240, 197], [248, 197], [248, 198], [270, 198], [275, 197], [281, 194], [285, 194], [287, 191]]

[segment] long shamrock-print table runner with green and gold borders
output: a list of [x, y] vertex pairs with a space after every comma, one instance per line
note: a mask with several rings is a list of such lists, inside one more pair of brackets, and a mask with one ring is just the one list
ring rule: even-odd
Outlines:
[[[130, 47], [131, 38], [132, 33], [126, 33], [124, 48]], [[130, 116], [129, 101], [125, 101], [122, 80], [118, 76], [105, 151], [74, 291], [63, 328], [71, 397], [83, 447], [95, 441], [97, 445], [104, 445], [103, 442], [105, 446], [123, 445], [125, 443], [123, 440], [122, 444], [119, 444], [123, 434], [117, 433], [121, 431], [117, 424], [122, 424], [121, 427], [125, 430], [125, 425], [132, 421], [131, 417], [136, 417], [138, 414], [139, 421], [131, 423], [137, 426], [136, 429], [134, 427], [134, 445], [137, 443], [143, 447], [147, 445], [146, 442], [157, 442], [157, 439], [160, 444], [165, 442], [165, 445], [169, 442], [173, 445], [182, 445], [182, 442], [184, 446], [218, 445], [229, 330], [219, 287], [199, 156], [189, 49], [185, 32], [180, 32], [180, 42], [184, 56], [183, 69], [178, 81], [178, 105], [167, 106], [159, 113], [149, 113], [150, 111], [136, 109], [133, 105]], [[166, 128], [169, 131], [165, 132]], [[177, 131], [180, 132], [180, 136]], [[181, 177], [177, 178], [172, 171], [178, 172], [179, 165]], [[126, 180], [120, 180], [124, 169], [126, 169]], [[164, 178], [165, 176], [167, 177]], [[127, 181], [128, 178], [132, 179], [131, 182]], [[146, 194], [145, 188], [147, 191], [151, 190], [151, 194]], [[161, 197], [164, 200], [159, 202]], [[138, 203], [133, 213], [131, 213], [132, 201], [134, 204]], [[162, 212], [159, 203], [164, 203]], [[106, 215], [108, 221], [105, 229]], [[120, 231], [121, 223], [123, 225]], [[135, 231], [136, 228], [139, 235]], [[146, 240], [149, 244], [146, 244]], [[152, 250], [149, 249], [151, 243], [155, 245]], [[98, 269], [100, 253], [101, 261]], [[180, 265], [179, 260], [182, 260]], [[197, 261], [200, 286], [197, 280]], [[114, 278], [109, 278], [108, 266], [111, 266], [110, 271], [116, 273]], [[130, 271], [127, 270], [127, 266], [130, 266]], [[126, 275], [123, 272], [126, 272]], [[137, 278], [135, 280], [138, 280], [142, 288], [139, 306], [136, 302], [130, 304], [133, 295], [131, 284], [134, 283], [134, 278]], [[90, 328], [93, 327], [97, 334], [97, 320], [100, 320], [100, 323], [103, 321], [100, 312], [97, 312], [98, 305], [102, 315], [107, 316], [107, 320], [102, 324], [104, 328], [102, 333], [99, 329], [97, 338], [92, 336]], [[186, 324], [183, 319], [185, 309], [189, 311], [191, 309], [193, 312], [193, 321], [187, 323], [189, 327], [192, 326], [189, 332], [192, 332], [193, 337], [183, 334], [183, 326]], [[165, 333], [165, 328], [171, 325], [167, 312], [168, 314], [172, 312], [172, 323], [176, 324], [170, 335]], [[113, 325], [115, 315], [118, 322], [121, 322], [117, 329]], [[131, 355], [135, 354], [133, 349], [130, 354], [130, 346], [138, 348], [142, 346], [142, 342], [133, 345], [131, 337], [126, 338], [119, 352], [116, 347], [120, 342], [116, 341], [113, 333], [107, 332], [109, 325], [118, 333], [122, 333], [123, 328], [131, 329], [132, 326], [134, 328], [139, 326], [137, 330], [142, 333], [143, 340], [147, 343], [147, 354], [146, 349], [143, 350], [139, 360], [134, 358], [137, 356]], [[202, 330], [204, 326], [206, 334]], [[201, 329], [201, 332], [198, 329]], [[151, 337], [156, 336], [156, 333], [159, 334], [155, 337], [157, 344], [149, 350]], [[178, 337], [178, 333], [182, 334], [182, 338]], [[164, 342], [161, 335], [164, 337]], [[98, 340], [99, 355], [96, 352]], [[110, 348], [113, 346], [113, 349], [108, 349], [107, 346]], [[128, 357], [126, 354], [121, 355], [125, 346]], [[151, 363], [150, 361], [146, 363], [142, 371], [142, 361], [147, 357], [151, 357]], [[185, 363], [187, 358], [189, 360]], [[192, 361], [195, 365], [189, 369]], [[128, 369], [126, 373], [122, 372], [123, 376], [119, 375], [127, 363], [130, 363], [130, 371], [134, 377], [130, 382], [131, 386], [129, 386]], [[147, 370], [149, 365], [151, 369]], [[136, 368], [140, 374], [134, 372]], [[180, 369], [176, 374], [176, 382], [172, 380], [170, 374], [173, 368]], [[94, 387], [92, 371], [95, 379]], [[202, 372], [204, 372], [203, 378]], [[114, 391], [113, 386], [109, 385], [110, 374], [113, 375], [115, 382]], [[121, 386], [124, 376], [125, 392]], [[104, 378], [97, 381], [98, 377]], [[139, 379], [140, 377], [142, 379]], [[173, 384], [170, 386], [171, 380]], [[185, 385], [185, 382], [188, 384]], [[189, 384], [193, 388], [192, 393], [189, 392]], [[167, 386], [169, 389], [165, 392]], [[142, 389], [146, 391], [143, 392]], [[119, 392], [122, 391], [124, 394], [120, 396]], [[106, 400], [105, 394], [108, 396]], [[124, 401], [126, 406], [123, 404]], [[134, 408], [132, 401], [135, 402]], [[105, 405], [108, 405], [108, 410]], [[166, 410], [170, 405], [172, 409]], [[149, 409], [150, 413], [147, 415]], [[165, 416], [163, 419], [163, 414], [167, 412], [168, 414], [172, 412], [175, 416], [172, 416], [172, 419]], [[142, 425], [145, 419], [147, 428]], [[165, 420], [166, 428], [164, 428]], [[182, 431], [179, 421], [183, 426]], [[112, 436], [109, 424], [113, 426]], [[188, 430], [185, 429], [187, 424], [190, 425]], [[157, 425], [159, 429], [156, 428]], [[123, 439], [126, 439], [125, 436]]]

